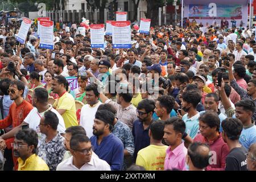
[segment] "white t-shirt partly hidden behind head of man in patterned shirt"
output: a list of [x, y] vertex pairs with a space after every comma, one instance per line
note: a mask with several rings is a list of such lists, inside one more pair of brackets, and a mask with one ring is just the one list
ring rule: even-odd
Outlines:
[[[60, 113], [58, 113], [58, 111], [53, 109], [52, 106], [49, 107], [48, 110], [51, 110], [53, 113], [55, 113], [59, 119], [59, 125], [57, 126], [57, 131], [59, 131], [59, 133], [65, 133], [66, 128], [65, 128], [63, 117], [60, 115]], [[38, 109], [36, 109], [36, 107], [34, 107], [30, 111], [30, 113], [28, 113], [27, 117], [24, 119], [24, 122], [28, 123], [30, 129], [37, 131], [39, 129], [40, 119], [42, 118], [44, 113], [45, 112], [38, 113]]]

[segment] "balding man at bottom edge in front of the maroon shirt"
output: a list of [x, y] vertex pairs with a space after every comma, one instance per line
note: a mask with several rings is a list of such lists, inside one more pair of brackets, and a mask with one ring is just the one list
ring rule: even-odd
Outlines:
[[210, 148], [207, 144], [194, 142], [188, 146], [186, 157], [187, 171], [204, 171], [209, 165]]

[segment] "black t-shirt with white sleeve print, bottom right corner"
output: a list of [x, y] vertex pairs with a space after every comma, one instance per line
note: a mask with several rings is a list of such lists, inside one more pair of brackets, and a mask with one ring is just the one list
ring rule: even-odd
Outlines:
[[226, 171], [247, 171], [247, 151], [243, 147], [233, 148], [226, 156]]

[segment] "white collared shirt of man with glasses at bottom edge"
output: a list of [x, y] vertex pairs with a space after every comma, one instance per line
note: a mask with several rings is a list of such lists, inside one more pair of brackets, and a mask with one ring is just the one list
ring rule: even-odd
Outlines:
[[56, 171], [111, 171], [109, 164], [92, 155], [89, 163], [85, 163], [80, 169], [73, 164], [73, 156], [61, 162]]

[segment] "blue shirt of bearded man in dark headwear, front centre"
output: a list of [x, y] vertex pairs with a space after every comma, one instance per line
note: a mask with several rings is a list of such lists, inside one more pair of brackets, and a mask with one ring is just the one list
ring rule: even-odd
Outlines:
[[110, 165], [112, 171], [122, 170], [123, 143], [118, 137], [109, 134], [98, 145], [97, 137], [93, 136], [90, 138], [90, 142], [92, 142], [93, 151], [98, 155], [98, 158], [105, 160]]

